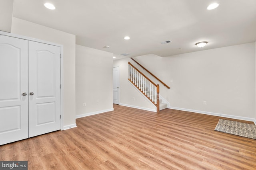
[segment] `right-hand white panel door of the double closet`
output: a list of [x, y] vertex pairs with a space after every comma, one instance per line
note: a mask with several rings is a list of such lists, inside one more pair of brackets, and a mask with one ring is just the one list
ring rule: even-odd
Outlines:
[[28, 43], [29, 137], [60, 130], [60, 47]]

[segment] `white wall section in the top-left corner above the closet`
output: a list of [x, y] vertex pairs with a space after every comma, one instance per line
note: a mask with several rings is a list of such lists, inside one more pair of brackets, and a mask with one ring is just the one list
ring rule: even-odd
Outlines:
[[1, 0], [0, 4], [0, 30], [11, 32], [13, 0]]

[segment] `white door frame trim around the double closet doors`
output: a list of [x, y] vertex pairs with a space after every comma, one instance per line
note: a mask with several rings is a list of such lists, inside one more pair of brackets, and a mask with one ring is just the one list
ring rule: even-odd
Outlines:
[[60, 130], [64, 130], [64, 98], [63, 98], [63, 94], [64, 94], [64, 49], [63, 49], [63, 45], [57, 44], [57, 43], [52, 43], [49, 41], [44, 41], [44, 40], [40, 40], [40, 39], [35, 39], [35, 38], [30, 38], [30, 37], [25, 37], [22, 35], [16, 35], [13, 33], [8, 33], [5, 31], [0, 31], [0, 35], [6, 35], [9, 37], [15, 37], [15, 38], [20, 38], [20, 39], [26, 39], [29, 41], [36, 41], [38, 43], [45, 43], [45, 44], [49, 44], [49, 45], [55, 45], [60, 47], [60, 54], [61, 54], [61, 59], [60, 59], [60, 83], [61, 83], [61, 90], [60, 90], [60, 114], [61, 114], [61, 121], [60, 121]]

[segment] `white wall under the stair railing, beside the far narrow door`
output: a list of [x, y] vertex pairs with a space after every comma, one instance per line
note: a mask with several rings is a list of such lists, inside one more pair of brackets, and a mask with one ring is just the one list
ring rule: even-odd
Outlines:
[[136, 88], [129, 82], [129, 61], [131, 62], [130, 59], [126, 58], [115, 60], [113, 63], [114, 67], [119, 67], [120, 105], [154, 111], [155, 107], [153, 104], [148, 102], [148, 100], [146, 100], [146, 98], [141, 93], [139, 93]]

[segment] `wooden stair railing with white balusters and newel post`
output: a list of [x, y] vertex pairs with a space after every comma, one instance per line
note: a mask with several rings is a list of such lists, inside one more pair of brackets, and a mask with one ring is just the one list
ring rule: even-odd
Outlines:
[[144, 96], [146, 96], [150, 102], [156, 106], [156, 111], [159, 112], [159, 84], [155, 84], [147, 76], [145, 76], [140, 70], [138, 70], [130, 62], [129, 64], [129, 78], [128, 80], [136, 87]]

